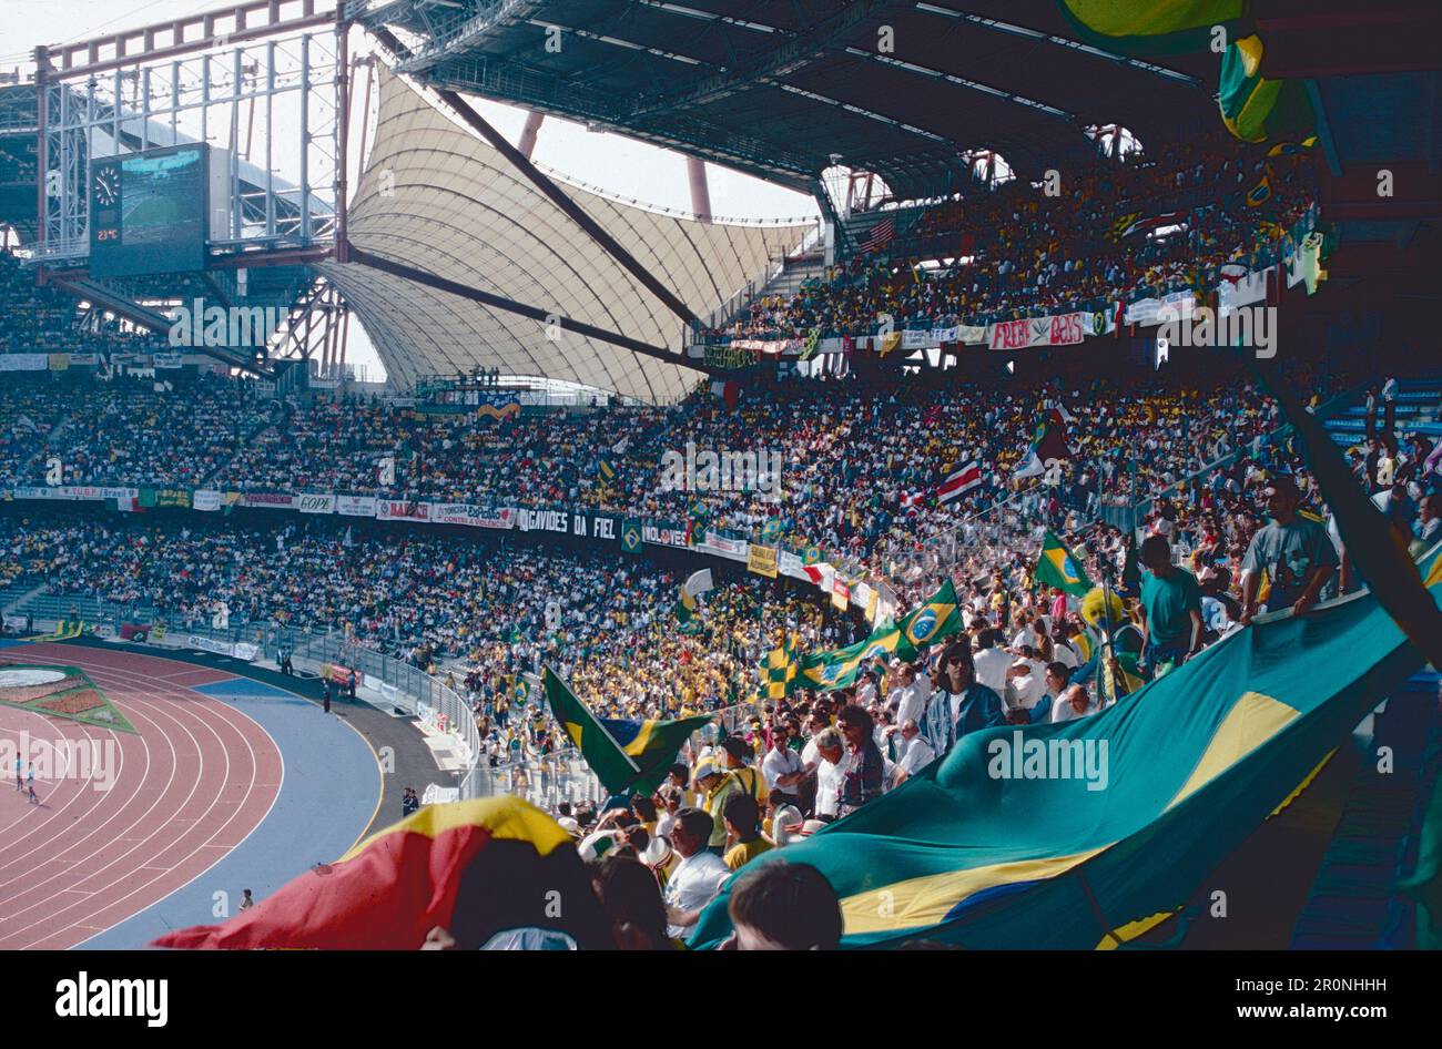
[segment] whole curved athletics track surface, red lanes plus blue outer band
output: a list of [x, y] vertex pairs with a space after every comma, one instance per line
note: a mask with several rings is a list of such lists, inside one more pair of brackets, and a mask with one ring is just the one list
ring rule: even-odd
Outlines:
[[26, 732], [32, 752], [76, 741], [110, 758], [37, 778], [39, 805], [4, 769], [0, 950], [134, 948], [215, 922], [241, 889], [262, 899], [337, 859], [375, 816], [375, 752], [307, 699], [114, 646], [4, 644], [6, 663], [82, 669], [138, 735], [0, 706], [12, 745]]

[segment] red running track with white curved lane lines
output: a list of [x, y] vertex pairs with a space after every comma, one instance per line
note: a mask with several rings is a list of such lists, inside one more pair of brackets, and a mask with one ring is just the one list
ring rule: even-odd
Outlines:
[[280, 794], [270, 735], [190, 689], [234, 674], [58, 644], [0, 650], [6, 663], [81, 667], [138, 735], [0, 706], [0, 738], [14, 746], [26, 731], [32, 748], [94, 741], [111, 758], [85, 778], [36, 777], [33, 805], [14, 790], [12, 751], [0, 782], [0, 950], [74, 947], [164, 899], [245, 840]]

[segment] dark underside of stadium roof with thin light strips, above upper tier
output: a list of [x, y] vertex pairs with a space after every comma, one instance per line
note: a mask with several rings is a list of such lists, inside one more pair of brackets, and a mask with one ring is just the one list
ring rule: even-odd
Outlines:
[[1109, 53], [1056, 3], [350, 0], [346, 14], [431, 85], [806, 193], [833, 154], [921, 199], [970, 184], [968, 150], [1037, 179], [1090, 156], [1093, 124], [1155, 147], [1217, 122], [1216, 55]]

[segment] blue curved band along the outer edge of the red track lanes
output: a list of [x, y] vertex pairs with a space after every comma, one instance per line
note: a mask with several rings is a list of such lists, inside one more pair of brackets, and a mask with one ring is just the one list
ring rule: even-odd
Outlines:
[[286, 768], [280, 795], [225, 859], [76, 950], [137, 948], [172, 929], [216, 924], [222, 921], [215, 915], [216, 892], [229, 895], [235, 914], [241, 889], [265, 899], [311, 865], [340, 859], [371, 823], [381, 771], [369, 744], [349, 725], [310, 700], [244, 677], [195, 692], [234, 706], [270, 733]]

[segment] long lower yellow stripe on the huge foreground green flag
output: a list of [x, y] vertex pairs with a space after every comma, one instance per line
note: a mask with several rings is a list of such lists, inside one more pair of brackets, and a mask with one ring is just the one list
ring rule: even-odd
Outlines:
[[1110, 846], [1105, 844], [1071, 856], [989, 863], [968, 870], [923, 875], [848, 896], [841, 901], [845, 934], [849, 937], [862, 932], [900, 932], [936, 925], [960, 901], [983, 889], [1056, 878], [1106, 849]]

